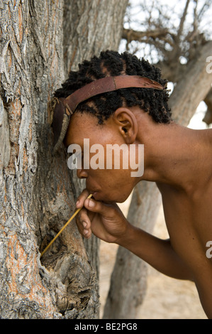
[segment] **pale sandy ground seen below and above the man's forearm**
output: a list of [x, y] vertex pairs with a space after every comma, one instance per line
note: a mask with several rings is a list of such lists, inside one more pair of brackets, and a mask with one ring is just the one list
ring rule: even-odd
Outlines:
[[[126, 214], [128, 203], [122, 205]], [[153, 234], [166, 238], [167, 229], [164, 222], [162, 206], [155, 224]], [[116, 259], [116, 244], [101, 242], [100, 247], [100, 317], [103, 315], [104, 303], [108, 293], [111, 272]], [[140, 319], [206, 319], [196, 287], [192, 282], [169, 278], [149, 266], [147, 293], [140, 307]]]

